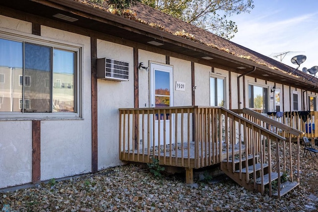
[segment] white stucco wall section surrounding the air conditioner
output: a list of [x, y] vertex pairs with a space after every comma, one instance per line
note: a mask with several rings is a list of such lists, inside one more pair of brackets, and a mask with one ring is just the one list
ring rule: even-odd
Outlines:
[[[129, 63], [129, 81], [97, 80], [98, 169], [102, 169], [122, 164], [118, 152], [118, 109], [134, 107], [133, 48], [97, 40], [97, 58], [110, 58]], [[146, 62], [145, 65], [147, 66]]]

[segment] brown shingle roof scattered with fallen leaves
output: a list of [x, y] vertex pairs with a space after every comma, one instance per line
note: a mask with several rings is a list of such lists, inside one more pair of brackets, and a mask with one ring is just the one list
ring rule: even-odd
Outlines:
[[[79, 1], [91, 4], [93, 6], [97, 6], [97, 4], [94, 3], [92, 0]], [[106, 1], [104, 1], [101, 6], [97, 7], [106, 11], [108, 11], [109, 8]], [[250, 60], [256, 64], [260, 64], [269, 68], [278, 69], [280, 71], [285, 71], [287, 73], [293, 71], [295, 75], [298, 75], [305, 79], [312, 78], [311, 75], [304, 73], [303, 71], [294, 71], [295, 68], [293, 67], [282, 64], [272, 58], [264, 56], [251, 49], [236, 44], [232, 41], [226, 40], [209, 31], [206, 31], [202, 28], [196, 27], [185, 21], [172, 17], [168, 14], [165, 14], [159, 10], [156, 10], [140, 2], [136, 2], [136, 4], [130, 7], [130, 10], [135, 12], [136, 19], [141, 20], [143, 23], [146, 23], [148, 25], [154, 24], [157, 26], [161, 26], [161, 29], [171, 34], [176, 34], [178, 32], [184, 31], [184, 33], [189, 33], [193, 35], [195, 40], [200, 41], [200, 43], [204, 43], [205, 45], [211, 46], [211, 48], [219, 49], [223, 52], [227, 52], [229, 54], [244, 58], [246, 60]], [[313, 82], [314, 81], [318, 82], [318, 79], [314, 78]]]

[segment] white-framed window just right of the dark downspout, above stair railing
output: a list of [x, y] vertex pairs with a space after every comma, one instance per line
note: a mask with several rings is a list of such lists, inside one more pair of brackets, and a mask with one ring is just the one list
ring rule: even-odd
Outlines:
[[256, 85], [248, 85], [248, 106], [250, 108], [262, 110], [263, 113], [268, 112], [268, 88]]

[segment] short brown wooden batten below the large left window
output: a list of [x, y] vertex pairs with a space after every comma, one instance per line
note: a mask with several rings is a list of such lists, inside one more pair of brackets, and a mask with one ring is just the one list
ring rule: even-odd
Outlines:
[[32, 121], [32, 183], [41, 180], [41, 121]]

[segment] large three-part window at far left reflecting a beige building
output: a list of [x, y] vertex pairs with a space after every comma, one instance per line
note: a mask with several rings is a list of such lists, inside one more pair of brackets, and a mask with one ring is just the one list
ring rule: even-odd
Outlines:
[[73, 46], [0, 37], [0, 112], [79, 113], [79, 55]]

